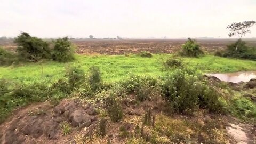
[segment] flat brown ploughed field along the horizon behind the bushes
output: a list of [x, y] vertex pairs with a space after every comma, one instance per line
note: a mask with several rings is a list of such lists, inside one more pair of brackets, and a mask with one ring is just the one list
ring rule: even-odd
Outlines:
[[[125, 54], [149, 51], [151, 53], [177, 52], [186, 39], [73, 39], [79, 54]], [[198, 39], [202, 49], [215, 52], [225, 49], [236, 39]], [[245, 39], [249, 45], [256, 46], [255, 39]], [[15, 51], [16, 45], [11, 41], [0, 41], [0, 46]]]

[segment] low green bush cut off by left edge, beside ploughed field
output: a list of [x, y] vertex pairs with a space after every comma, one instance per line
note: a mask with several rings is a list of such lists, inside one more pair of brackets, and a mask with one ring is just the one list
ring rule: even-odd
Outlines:
[[0, 47], [0, 65], [11, 65], [18, 62], [17, 55]]

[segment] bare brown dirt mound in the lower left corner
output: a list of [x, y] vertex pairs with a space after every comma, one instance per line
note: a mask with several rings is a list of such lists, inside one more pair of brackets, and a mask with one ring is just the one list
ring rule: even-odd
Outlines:
[[[66, 143], [72, 135], [97, 121], [97, 113], [90, 104], [76, 100], [63, 100], [53, 107], [45, 102], [19, 111], [12, 119], [0, 126], [1, 143]], [[70, 135], [63, 135], [61, 123], [69, 122]]]

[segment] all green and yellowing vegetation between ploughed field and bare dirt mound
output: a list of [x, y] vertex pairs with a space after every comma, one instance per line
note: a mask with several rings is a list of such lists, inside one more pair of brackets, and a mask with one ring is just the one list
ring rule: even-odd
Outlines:
[[[231, 114], [255, 122], [256, 105], [247, 98], [233, 97], [228, 86], [209, 84], [202, 73], [255, 68], [255, 61], [170, 54], [154, 54], [151, 58], [135, 54], [76, 55], [76, 61], [69, 63], [44, 61], [1, 67], [0, 123], [15, 108], [29, 103], [50, 100], [57, 105], [63, 98], [76, 97], [82, 102], [100, 104], [97, 127], [89, 134], [90, 140], [83, 142], [109, 141], [107, 137], [113, 129], [109, 125], [121, 124], [116, 129], [127, 143], [228, 143], [224, 122], [214, 117], [203, 118], [204, 115]], [[162, 102], [157, 105], [158, 101]], [[123, 125], [129, 122], [127, 107], [134, 111], [143, 108], [136, 123], [130, 121], [136, 125], [133, 130]], [[157, 108], [161, 111], [156, 111]], [[29, 111], [29, 114], [42, 115], [44, 111]], [[61, 123], [60, 129], [63, 135], [75, 130], [67, 122]]]

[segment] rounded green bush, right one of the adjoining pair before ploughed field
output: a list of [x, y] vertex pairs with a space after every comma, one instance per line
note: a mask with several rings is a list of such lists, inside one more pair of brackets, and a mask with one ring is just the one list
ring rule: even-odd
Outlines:
[[59, 62], [68, 62], [75, 59], [74, 48], [71, 45], [68, 37], [58, 38], [54, 41], [52, 50], [52, 59]]

